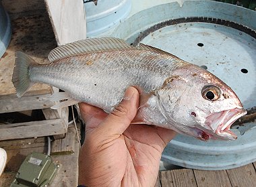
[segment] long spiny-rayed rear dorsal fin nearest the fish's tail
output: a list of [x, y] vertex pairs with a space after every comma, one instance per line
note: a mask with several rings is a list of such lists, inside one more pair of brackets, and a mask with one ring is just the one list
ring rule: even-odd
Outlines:
[[84, 52], [96, 52], [104, 50], [116, 50], [133, 48], [119, 38], [105, 37], [105, 38], [90, 38], [86, 40], [79, 40], [77, 42], [59, 46], [49, 53], [49, 60], [51, 62], [71, 56], [74, 54], [81, 54]]

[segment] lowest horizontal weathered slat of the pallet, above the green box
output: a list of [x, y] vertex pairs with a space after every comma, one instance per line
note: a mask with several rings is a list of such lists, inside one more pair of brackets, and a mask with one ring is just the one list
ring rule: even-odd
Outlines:
[[63, 119], [0, 125], [0, 140], [41, 137], [62, 133], [67, 133], [67, 127]]

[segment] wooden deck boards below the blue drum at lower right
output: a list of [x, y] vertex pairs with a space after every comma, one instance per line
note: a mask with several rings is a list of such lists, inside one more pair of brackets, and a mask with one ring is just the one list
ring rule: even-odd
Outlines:
[[155, 187], [255, 187], [256, 162], [219, 171], [179, 169], [159, 173]]

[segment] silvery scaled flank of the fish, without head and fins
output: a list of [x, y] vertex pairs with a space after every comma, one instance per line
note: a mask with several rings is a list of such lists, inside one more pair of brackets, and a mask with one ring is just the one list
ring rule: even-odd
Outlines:
[[[89, 61], [92, 64], [88, 65]], [[97, 107], [103, 107], [107, 103], [110, 107], [104, 109], [110, 111], [121, 101], [123, 92], [129, 85], [139, 85], [146, 93], [162, 86], [175, 67], [173, 63], [177, 64], [170, 58], [163, 60], [162, 56], [154, 52], [144, 51], [141, 54], [137, 50], [98, 52], [86, 56], [80, 54], [52, 64], [31, 66], [30, 80], [61, 88], [74, 99], [94, 103]], [[83, 77], [77, 79], [77, 76]], [[88, 90], [94, 94], [91, 95]]]

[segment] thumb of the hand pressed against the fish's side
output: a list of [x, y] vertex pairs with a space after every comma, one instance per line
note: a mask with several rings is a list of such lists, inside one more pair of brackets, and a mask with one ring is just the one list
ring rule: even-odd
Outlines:
[[106, 117], [98, 129], [102, 129], [105, 135], [122, 134], [131, 124], [138, 107], [139, 92], [136, 88], [129, 86], [121, 103]]

